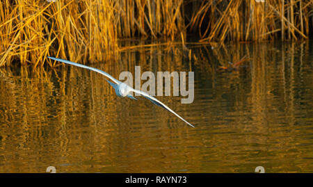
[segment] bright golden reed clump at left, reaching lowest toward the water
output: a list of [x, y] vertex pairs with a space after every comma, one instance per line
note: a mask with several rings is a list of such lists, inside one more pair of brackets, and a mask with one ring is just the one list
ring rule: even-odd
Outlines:
[[14, 58], [37, 66], [47, 55], [74, 61], [111, 57], [118, 48], [117, 5], [115, 1], [1, 1], [0, 66]]

